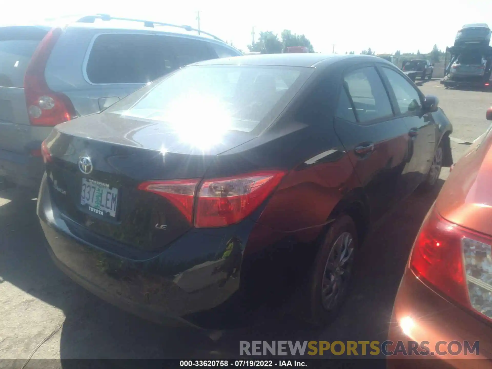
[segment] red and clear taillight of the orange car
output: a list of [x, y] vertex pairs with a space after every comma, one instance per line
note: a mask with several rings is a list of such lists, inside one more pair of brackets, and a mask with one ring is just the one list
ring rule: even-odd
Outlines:
[[410, 269], [463, 307], [492, 320], [492, 239], [439, 216], [427, 216]]

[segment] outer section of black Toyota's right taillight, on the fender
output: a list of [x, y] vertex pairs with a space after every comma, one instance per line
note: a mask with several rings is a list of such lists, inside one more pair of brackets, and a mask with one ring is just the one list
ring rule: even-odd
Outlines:
[[195, 227], [223, 227], [250, 215], [280, 183], [285, 172], [206, 180], [198, 192]]

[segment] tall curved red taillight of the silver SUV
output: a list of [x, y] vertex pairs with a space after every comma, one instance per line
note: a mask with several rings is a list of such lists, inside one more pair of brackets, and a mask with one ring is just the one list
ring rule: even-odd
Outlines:
[[44, 77], [46, 63], [61, 34], [61, 28], [49, 31], [32, 54], [26, 69], [24, 93], [32, 125], [54, 126], [76, 116], [70, 99], [50, 90]]

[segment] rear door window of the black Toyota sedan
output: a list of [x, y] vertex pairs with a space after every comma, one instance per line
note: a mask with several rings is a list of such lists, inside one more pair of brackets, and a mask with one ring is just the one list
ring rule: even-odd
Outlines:
[[343, 80], [360, 123], [393, 116], [390, 99], [374, 67], [349, 72]]

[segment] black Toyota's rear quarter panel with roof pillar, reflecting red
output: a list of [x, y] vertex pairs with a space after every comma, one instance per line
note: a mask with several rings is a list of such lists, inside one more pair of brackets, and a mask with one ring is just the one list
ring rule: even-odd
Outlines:
[[[317, 102], [311, 96], [320, 95], [315, 89], [322, 75], [330, 77], [322, 87], [324, 106], [318, 114]], [[314, 72], [270, 128], [256, 139], [218, 155], [207, 172], [207, 177], [220, 177], [229, 171], [244, 173], [256, 168], [287, 170], [257, 220], [275, 230], [277, 237], [288, 238], [285, 245], [311, 244], [326, 227], [337, 204], [361, 188], [333, 125], [338, 76], [324, 74], [322, 68]], [[299, 117], [300, 111], [316, 114]], [[256, 252], [272, 241], [258, 237], [258, 242], [248, 244], [246, 253]]]

